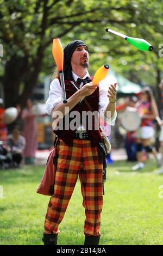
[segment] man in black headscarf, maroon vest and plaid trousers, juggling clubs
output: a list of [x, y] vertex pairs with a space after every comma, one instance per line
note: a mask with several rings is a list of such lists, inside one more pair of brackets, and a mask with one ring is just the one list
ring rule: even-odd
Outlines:
[[[88, 66], [89, 50], [85, 42], [81, 40], [70, 42], [64, 49], [64, 76], [60, 75], [62, 71], [58, 70], [59, 74], [51, 83], [46, 102], [47, 112], [52, 114], [54, 121], [57, 119], [56, 113], [62, 114], [64, 128], [62, 129], [59, 123], [57, 129], [53, 126], [54, 133], [58, 137], [57, 163], [55, 163], [54, 194], [49, 201], [45, 218], [42, 239], [45, 245], [57, 245], [59, 224], [71, 199], [78, 175], [86, 216], [84, 245], [98, 245], [101, 236], [105, 179], [105, 154], [102, 146], [104, 141], [99, 127], [95, 129], [95, 124], [92, 124], [92, 129], [89, 129], [89, 124], [83, 122], [82, 113], [103, 112], [105, 120], [114, 125], [117, 116], [116, 88], [115, 85], [107, 88], [104, 83], [98, 84], [98, 80], [93, 83], [87, 71]], [[105, 65], [104, 68], [109, 69], [109, 66]], [[68, 109], [66, 114], [65, 108]], [[65, 129], [66, 120], [72, 121], [73, 111], [80, 114], [79, 126], [72, 129], [70, 125], [69, 129]], [[109, 118], [107, 113], [110, 113]]]

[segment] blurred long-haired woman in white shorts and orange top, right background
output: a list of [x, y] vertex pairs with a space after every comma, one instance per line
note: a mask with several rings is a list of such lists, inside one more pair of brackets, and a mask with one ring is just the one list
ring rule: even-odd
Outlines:
[[153, 121], [158, 115], [158, 108], [156, 107], [153, 93], [149, 87], [145, 87], [142, 90], [140, 101], [136, 103], [136, 107], [142, 121], [140, 128], [136, 131], [137, 164], [133, 166], [132, 170], [139, 170], [145, 166], [142, 163], [143, 148], [147, 153], [152, 153], [160, 161], [159, 154], [151, 144], [151, 138], [154, 136]]

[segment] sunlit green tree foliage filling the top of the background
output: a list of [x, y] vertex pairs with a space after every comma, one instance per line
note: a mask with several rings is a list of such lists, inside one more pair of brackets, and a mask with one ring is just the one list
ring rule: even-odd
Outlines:
[[[0, 78], [6, 107], [24, 105], [41, 72], [51, 74], [56, 36], [63, 46], [74, 39], [86, 42], [92, 74], [107, 62], [133, 82], [154, 85], [161, 79], [162, 1], [0, 0], [0, 7]], [[139, 51], [106, 33], [106, 27], [146, 39], [154, 51]]]

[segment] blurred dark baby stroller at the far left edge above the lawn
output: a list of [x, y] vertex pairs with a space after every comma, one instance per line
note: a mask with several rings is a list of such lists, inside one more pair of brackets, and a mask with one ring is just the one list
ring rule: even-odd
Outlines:
[[5, 148], [5, 143], [0, 141], [0, 169], [8, 169], [14, 167], [11, 153]]

